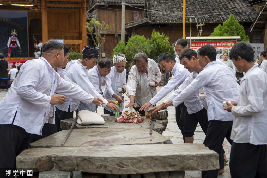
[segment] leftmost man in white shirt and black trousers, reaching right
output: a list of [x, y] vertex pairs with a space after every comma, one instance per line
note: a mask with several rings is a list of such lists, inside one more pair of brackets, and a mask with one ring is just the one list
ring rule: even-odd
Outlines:
[[[41, 58], [26, 61], [10, 90], [0, 102], [0, 169], [15, 168], [16, 156], [30, 148], [30, 133], [42, 135], [51, 104], [62, 104], [66, 96], [102, 105], [102, 100], [63, 80], [53, 68], [61, 67], [61, 43], [46, 42]], [[64, 95], [54, 95], [54, 93]]]

